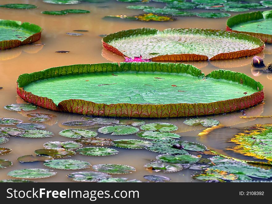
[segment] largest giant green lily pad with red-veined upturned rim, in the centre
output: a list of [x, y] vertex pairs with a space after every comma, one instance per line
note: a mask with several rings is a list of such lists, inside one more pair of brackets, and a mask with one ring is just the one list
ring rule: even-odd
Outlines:
[[263, 86], [243, 73], [215, 70], [205, 76], [196, 67], [180, 63], [70, 65], [23, 74], [17, 82], [17, 93], [25, 101], [55, 111], [109, 117], [227, 113], [252, 107], [264, 98]]

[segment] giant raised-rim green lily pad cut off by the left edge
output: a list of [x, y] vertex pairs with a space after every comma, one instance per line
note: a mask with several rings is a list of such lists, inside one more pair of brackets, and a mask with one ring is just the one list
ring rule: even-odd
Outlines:
[[[42, 28], [35, 24], [28, 22], [22, 24], [21, 21], [0, 19], [0, 50], [36, 42], [40, 40], [41, 31]], [[20, 104], [11, 104], [11, 106], [12, 105]], [[9, 110], [12, 110], [12, 107]]]

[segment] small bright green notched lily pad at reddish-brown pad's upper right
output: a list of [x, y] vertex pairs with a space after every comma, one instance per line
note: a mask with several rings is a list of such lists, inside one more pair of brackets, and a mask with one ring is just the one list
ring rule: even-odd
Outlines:
[[102, 127], [97, 131], [103, 134], [112, 133], [111, 135], [129, 135], [139, 132], [139, 129], [127, 125], [115, 125]]

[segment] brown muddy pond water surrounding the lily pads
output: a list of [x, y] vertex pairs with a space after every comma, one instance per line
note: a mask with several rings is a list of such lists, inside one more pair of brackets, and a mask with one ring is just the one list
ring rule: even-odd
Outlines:
[[[33, 10], [12, 10], [0, 8], [0, 19], [20, 20], [22, 22], [31, 22], [40, 25], [44, 30], [40, 43], [44, 43], [44, 46], [21, 46], [19, 48], [11, 50], [0, 51], [0, 86], [3, 89], [0, 90], [0, 107], [3, 107], [12, 103], [22, 103], [23, 101], [17, 97], [16, 94], [16, 79], [22, 73], [30, 73], [40, 71], [49, 67], [57, 67], [70, 64], [84, 64], [84, 63], [103, 63], [103, 62], [120, 62], [122, 57], [112, 54], [107, 50], [104, 50], [101, 45], [101, 34], [108, 34], [117, 32], [124, 29], [151, 27], [163, 30], [165, 28], [213, 28], [213, 29], [225, 29], [227, 18], [223, 19], [202, 19], [199, 17], [180, 17], [174, 22], [138, 22], [138, 21], [122, 21], [122, 20], [103, 20], [105, 15], [138, 15], [142, 13], [139, 10], [126, 9], [130, 3], [116, 2], [115, 0], [109, 0], [106, 3], [87, 3], [83, 2], [76, 5], [53, 5], [43, 3], [41, 0], [2, 0], [1, 4], [5, 3], [30, 3], [39, 6]], [[152, 3], [151, 6], [162, 7], [164, 4]], [[69, 14], [64, 16], [50, 16], [43, 15], [40, 12], [45, 10], [63, 10], [63, 9], [87, 9], [90, 10], [90, 14]], [[252, 10], [254, 11], [254, 10]], [[232, 13], [235, 15], [236, 13]], [[72, 32], [77, 29], [89, 30], [81, 37], [68, 36], [65, 33]], [[58, 50], [67, 50], [70, 53], [62, 54], [55, 53]], [[264, 57], [265, 63], [272, 62], [272, 45], [266, 45], [265, 50], [258, 54]], [[197, 62], [192, 63], [196, 67], [200, 68], [205, 74], [210, 73], [215, 69], [230, 69], [236, 72], [243, 72], [255, 80], [260, 81], [265, 89], [265, 101], [254, 108], [246, 110], [248, 116], [253, 115], [272, 115], [272, 91], [271, 80], [272, 74], [258, 74], [255, 72], [255, 68], [250, 65], [251, 58], [224, 60], [224, 61], [212, 61], [212, 62]], [[11, 179], [7, 176], [11, 170], [20, 168], [44, 168], [42, 162], [35, 163], [19, 163], [16, 158], [19, 156], [34, 154], [36, 149], [43, 148], [43, 144], [47, 141], [68, 141], [69, 138], [61, 137], [58, 132], [63, 129], [68, 129], [67, 126], [62, 126], [61, 123], [68, 120], [79, 120], [81, 115], [58, 113], [38, 108], [36, 111], [41, 113], [51, 113], [57, 115], [57, 118], [53, 118], [52, 121], [45, 123], [46, 130], [55, 134], [49, 138], [20, 138], [11, 137], [10, 141], [1, 144], [1, 147], [11, 148], [13, 152], [11, 154], [2, 155], [1, 159], [8, 159], [13, 162], [13, 166], [6, 169], [1, 169], [0, 179]], [[26, 114], [31, 112], [12, 112], [0, 108], [0, 117], [18, 118], [28, 122]], [[272, 119], [240, 119], [242, 112], [232, 113], [227, 115], [215, 115], [209, 116], [219, 120], [225, 126], [243, 128], [254, 124], [271, 123]], [[236, 133], [235, 129], [217, 130], [212, 136], [199, 137], [198, 133], [204, 128], [201, 126], [191, 127], [186, 126], [182, 122], [183, 118], [175, 119], [153, 119], [148, 122], [168, 122], [176, 124], [179, 129], [176, 133], [180, 134], [182, 140], [195, 141], [206, 145], [209, 149], [217, 150], [218, 152], [233, 156], [236, 158], [252, 159], [239, 154], [225, 151], [226, 146], [232, 144], [227, 141], [232, 137], [232, 134]], [[102, 127], [102, 125], [100, 126]], [[96, 130], [97, 128], [90, 128]], [[98, 135], [99, 137], [108, 137], [111, 139], [131, 138], [138, 139], [136, 135], [132, 136], [108, 136]], [[90, 157], [83, 155], [75, 155], [73, 159], [85, 160], [91, 164], [102, 163], [118, 163], [127, 164], [136, 168], [136, 172], [127, 175], [120, 175], [117, 177], [126, 177], [130, 179], [139, 179], [144, 181], [144, 175], [157, 174], [165, 175], [172, 179], [174, 182], [197, 182], [192, 180], [191, 174], [195, 171], [185, 169], [176, 173], [152, 173], [147, 171], [143, 165], [149, 163], [150, 160], [155, 159], [157, 153], [147, 150], [126, 150], [121, 148], [114, 148], [119, 150], [119, 154], [108, 157]], [[47, 179], [38, 179], [37, 181], [43, 182], [69, 182], [66, 175], [72, 170], [55, 170], [57, 175]], [[81, 170], [79, 170], [81, 171]], [[82, 171], [92, 171], [92, 169], [85, 169]]]

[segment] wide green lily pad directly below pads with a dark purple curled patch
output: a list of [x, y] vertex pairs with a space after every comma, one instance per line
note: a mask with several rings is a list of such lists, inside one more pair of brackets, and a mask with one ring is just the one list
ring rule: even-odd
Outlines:
[[171, 154], [161, 154], [156, 156], [156, 159], [161, 162], [168, 162], [174, 164], [194, 164], [199, 161], [199, 157], [191, 154], [179, 154], [173, 156]]

